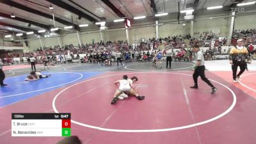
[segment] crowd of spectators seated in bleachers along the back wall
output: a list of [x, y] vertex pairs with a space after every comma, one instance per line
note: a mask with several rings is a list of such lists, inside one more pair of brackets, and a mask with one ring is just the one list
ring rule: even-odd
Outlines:
[[[237, 31], [240, 33], [246, 33], [246, 35], [254, 35], [255, 29], [250, 29], [246, 31]], [[212, 47], [212, 40], [214, 40], [214, 47]], [[236, 38], [234, 38], [236, 40]], [[1, 56], [3, 61], [6, 63], [19, 63], [27, 62], [31, 56], [34, 56], [38, 63], [42, 63], [42, 56], [47, 57], [49, 61], [55, 61], [54, 63], [62, 62], [90, 62], [90, 63], [109, 63], [115, 61], [115, 52], [123, 52], [125, 61], [140, 61], [147, 59], [148, 61], [152, 60], [154, 53], [158, 49], [164, 49], [170, 47], [173, 49], [173, 60], [183, 60], [184, 56], [191, 56], [190, 47], [191, 45], [198, 44], [201, 47], [210, 47], [209, 51], [205, 51], [205, 55], [210, 55], [212, 58], [213, 54], [222, 54], [228, 52], [227, 49], [221, 51], [221, 46], [227, 45], [226, 38], [216, 39], [214, 33], [201, 33], [196, 35], [194, 38], [191, 38], [190, 35], [177, 35], [177, 36], [168, 36], [165, 38], [149, 38], [148, 40], [141, 38], [139, 44], [128, 45], [127, 41], [118, 40], [116, 42], [92, 42], [89, 44], [81, 45], [54, 45], [54, 47], [44, 47], [36, 49], [34, 52], [24, 52], [22, 54], [4, 54]], [[250, 45], [249, 45], [250, 46]], [[218, 47], [218, 48], [217, 48]], [[147, 51], [149, 54], [147, 54]], [[254, 48], [252, 50], [255, 52]], [[252, 52], [252, 53], [253, 53]], [[145, 54], [146, 53], [146, 54]], [[138, 56], [137, 56], [138, 55]], [[14, 59], [14, 58], [20, 58]], [[191, 58], [189, 58], [191, 60]]]

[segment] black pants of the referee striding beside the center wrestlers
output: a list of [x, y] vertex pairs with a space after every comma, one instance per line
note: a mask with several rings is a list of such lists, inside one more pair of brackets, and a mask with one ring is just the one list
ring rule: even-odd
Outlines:
[[204, 71], [205, 71], [204, 65], [196, 67], [195, 72], [194, 72], [194, 74], [193, 74], [193, 79], [194, 79], [195, 85], [196, 85], [196, 86], [198, 85], [198, 84], [197, 84], [197, 79], [198, 79], [198, 77], [200, 76], [201, 79], [202, 79], [205, 83], [207, 83], [209, 86], [213, 87], [211, 81], [209, 81], [209, 79], [207, 79], [207, 78], [205, 77]]

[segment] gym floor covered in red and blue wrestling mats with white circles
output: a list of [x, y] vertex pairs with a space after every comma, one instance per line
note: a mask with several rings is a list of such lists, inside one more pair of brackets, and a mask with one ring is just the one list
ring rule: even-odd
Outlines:
[[[254, 144], [256, 142], [256, 68], [249, 65], [241, 81], [232, 81], [227, 61], [205, 61], [206, 77], [193, 85], [193, 62], [173, 62], [172, 69], [152, 62], [61, 64], [42, 70], [51, 77], [24, 81], [30, 65], [4, 67], [8, 86], [0, 89], [0, 143], [54, 144], [60, 137], [12, 137], [11, 113], [71, 113], [72, 135], [90, 144]], [[221, 62], [221, 63], [220, 63]], [[44, 67], [38, 66], [39, 69]], [[138, 77], [134, 83], [144, 100], [129, 97], [110, 102], [114, 81]]]

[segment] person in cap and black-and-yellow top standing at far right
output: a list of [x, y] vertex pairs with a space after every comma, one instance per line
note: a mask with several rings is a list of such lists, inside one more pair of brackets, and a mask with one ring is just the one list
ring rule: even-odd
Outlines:
[[[232, 47], [230, 49], [229, 54], [229, 63], [232, 65], [232, 76], [233, 81], [236, 83], [237, 79], [239, 80], [241, 74], [243, 74], [244, 70], [247, 67], [247, 63], [251, 63], [250, 56], [248, 50], [244, 45], [244, 40], [239, 39], [237, 40], [236, 47]], [[247, 61], [247, 63], [246, 63]], [[240, 67], [240, 72], [237, 74], [237, 67]]]

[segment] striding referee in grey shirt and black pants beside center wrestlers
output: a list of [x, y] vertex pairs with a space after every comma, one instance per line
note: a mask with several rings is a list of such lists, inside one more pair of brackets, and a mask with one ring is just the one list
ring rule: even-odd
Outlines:
[[199, 45], [194, 45], [193, 51], [196, 52], [196, 56], [195, 56], [196, 65], [195, 65], [195, 68], [194, 68], [195, 71], [194, 71], [194, 74], [193, 74], [193, 79], [194, 79], [195, 85], [194, 86], [190, 86], [190, 88], [198, 89], [197, 79], [198, 79], [198, 76], [200, 76], [201, 79], [205, 83], [207, 83], [209, 86], [211, 86], [211, 89], [212, 89], [211, 93], [216, 92], [216, 87], [213, 86], [211, 81], [209, 81], [209, 79], [207, 79], [205, 77], [204, 54], [202, 53], [202, 51], [200, 51]]

